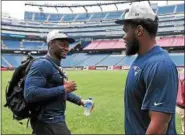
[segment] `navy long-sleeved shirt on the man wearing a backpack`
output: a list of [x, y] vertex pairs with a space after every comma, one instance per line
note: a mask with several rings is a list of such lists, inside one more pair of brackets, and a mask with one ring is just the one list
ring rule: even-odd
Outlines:
[[[58, 66], [60, 62], [53, 60]], [[38, 119], [47, 123], [65, 121], [66, 100], [80, 105], [81, 98], [73, 93], [66, 93], [64, 77], [47, 59], [33, 62], [25, 80], [24, 98], [28, 103], [41, 105]]]

